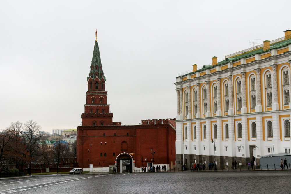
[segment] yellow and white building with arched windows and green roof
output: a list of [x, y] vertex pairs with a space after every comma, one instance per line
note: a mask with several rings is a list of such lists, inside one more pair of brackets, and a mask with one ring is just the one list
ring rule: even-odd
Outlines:
[[[290, 153], [291, 30], [178, 74], [176, 164], [246, 165]], [[215, 142], [215, 147], [214, 143]], [[215, 153], [214, 153], [215, 150]], [[280, 161], [279, 161], [280, 162]]]

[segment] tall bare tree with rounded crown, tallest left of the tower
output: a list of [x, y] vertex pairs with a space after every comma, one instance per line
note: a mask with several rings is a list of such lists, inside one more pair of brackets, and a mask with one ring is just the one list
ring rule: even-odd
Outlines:
[[31, 162], [34, 157], [39, 156], [38, 149], [40, 148], [40, 139], [43, 136], [39, 133], [41, 127], [37, 122], [29, 120], [24, 124], [24, 131], [22, 131], [23, 140], [26, 141], [26, 151], [29, 153], [29, 175], [31, 175]]

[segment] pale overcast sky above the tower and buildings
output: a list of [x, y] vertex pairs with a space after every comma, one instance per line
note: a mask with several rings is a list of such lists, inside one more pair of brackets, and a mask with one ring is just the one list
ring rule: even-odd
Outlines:
[[95, 29], [113, 121], [176, 117], [175, 77], [274, 40], [291, 1], [0, 0], [0, 129], [81, 124]]

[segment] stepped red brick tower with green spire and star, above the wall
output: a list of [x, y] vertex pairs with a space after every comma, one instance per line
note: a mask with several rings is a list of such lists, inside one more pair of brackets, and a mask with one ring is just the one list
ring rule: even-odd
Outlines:
[[90, 66], [90, 73], [87, 77], [88, 91], [86, 92], [86, 104], [84, 105], [85, 113], [83, 113], [81, 117], [82, 126], [113, 125], [113, 113], [109, 112], [109, 104], [107, 104], [105, 80], [96, 31], [93, 58]]

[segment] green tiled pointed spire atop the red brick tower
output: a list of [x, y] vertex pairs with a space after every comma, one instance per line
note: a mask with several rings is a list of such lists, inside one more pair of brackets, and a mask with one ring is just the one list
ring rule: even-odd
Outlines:
[[87, 81], [89, 80], [90, 77], [94, 80], [96, 77], [101, 80], [102, 78], [105, 77], [103, 75], [103, 67], [101, 64], [101, 59], [100, 59], [100, 52], [99, 52], [99, 46], [97, 40], [95, 41], [94, 45], [94, 51], [93, 51], [93, 57], [92, 57], [92, 62], [91, 62], [91, 70], [89, 73], [89, 76], [87, 77]]

